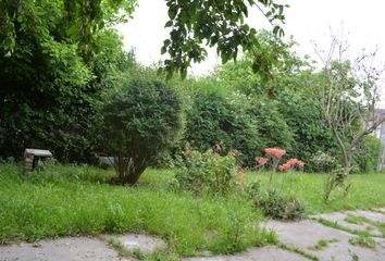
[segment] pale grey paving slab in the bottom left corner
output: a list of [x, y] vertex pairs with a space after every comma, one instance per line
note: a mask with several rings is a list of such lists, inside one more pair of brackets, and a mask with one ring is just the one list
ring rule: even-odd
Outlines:
[[0, 246], [0, 261], [128, 261], [103, 241], [87, 237]]

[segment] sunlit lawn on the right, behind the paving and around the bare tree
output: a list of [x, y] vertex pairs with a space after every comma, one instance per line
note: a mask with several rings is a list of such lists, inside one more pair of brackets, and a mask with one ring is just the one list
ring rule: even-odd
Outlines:
[[[282, 173], [273, 174], [274, 187], [281, 188]], [[326, 174], [286, 173], [284, 191], [289, 190], [293, 178], [293, 194], [305, 204], [308, 214], [333, 212], [350, 209], [372, 209], [385, 206], [385, 174], [352, 174], [352, 186], [347, 197], [343, 191], [332, 194], [331, 200], [323, 200]], [[248, 173], [250, 181], [257, 178], [263, 186], [269, 186], [269, 173]]]

